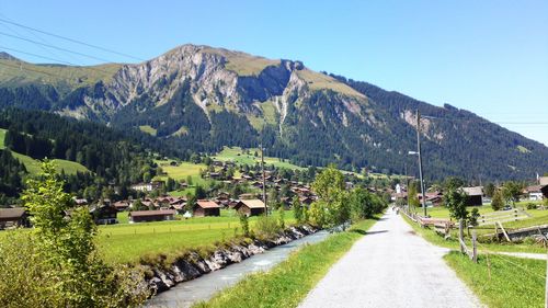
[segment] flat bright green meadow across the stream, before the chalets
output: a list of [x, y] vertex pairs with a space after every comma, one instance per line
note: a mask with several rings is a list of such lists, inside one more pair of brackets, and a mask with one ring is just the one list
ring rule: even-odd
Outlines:
[[[256, 219], [250, 218], [251, 227]], [[295, 223], [293, 212], [286, 212], [285, 220], [286, 224]], [[123, 224], [127, 223], [127, 213], [119, 213], [118, 221], [118, 225], [99, 228], [99, 248], [111, 263], [132, 263], [138, 262], [141, 256], [159, 253], [173, 255], [187, 249], [213, 248], [216, 242], [241, 235], [239, 218], [233, 210], [221, 210], [221, 217], [140, 224]]]

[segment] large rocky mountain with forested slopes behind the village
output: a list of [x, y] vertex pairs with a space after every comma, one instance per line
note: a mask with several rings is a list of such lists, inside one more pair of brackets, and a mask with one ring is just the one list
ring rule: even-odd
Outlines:
[[470, 112], [373, 84], [208, 46], [183, 45], [141, 64], [32, 65], [7, 54], [0, 107], [37, 109], [123, 129], [140, 127], [192, 151], [256, 146], [301, 166], [409, 173], [414, 112], [427, 179], [526, 179], [548, 148]]

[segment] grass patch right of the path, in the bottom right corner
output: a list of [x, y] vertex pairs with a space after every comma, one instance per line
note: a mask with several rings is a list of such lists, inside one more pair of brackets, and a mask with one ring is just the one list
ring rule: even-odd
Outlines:
[[445, 255], [457, 275], [489, 307], [544, 307], [546, 261], [480, 255], [478, 263], [459, 252]]

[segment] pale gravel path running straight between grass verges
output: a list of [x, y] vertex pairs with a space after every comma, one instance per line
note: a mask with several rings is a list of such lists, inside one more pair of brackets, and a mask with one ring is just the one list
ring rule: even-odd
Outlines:
[[482, 307], [442, 259], [447, 252], [389, 210], [299, 307]]

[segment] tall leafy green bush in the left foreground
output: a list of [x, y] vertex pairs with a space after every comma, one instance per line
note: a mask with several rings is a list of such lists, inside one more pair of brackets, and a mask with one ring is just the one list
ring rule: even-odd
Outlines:
[[[43, 307], [127, 307], [145, 300], [147, 295], [137, 288], [139, 278], [132, 280], [127, 272], [101, 260], [94, 244], [96, 226], [88, 209], [77, 207], [69, 219], [65, 217], [72, 198], [64, 192], [64, 185], [54, 163], [46, 160], [38, 180], [28, 180], [22, 195], [32, 214], [34, 228], [30, 240], [34, 247], [32, 251], [19, 253], [31, 253], [26, 258], [36, 262], [30, 263], [27, 266], [33, 269], [26, 270], [31, 275], [39, 273], [32, 276], [38, 280], [36, 289], [31, 287], [24, 292], [43, 296], [39, 305]], [[0, 262], [0, 272], [4, 271], [10, 270], [2, 269]], [[4, 301], [0, 299], [0, 303]]]

